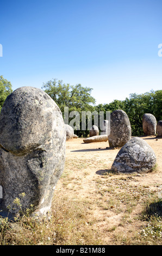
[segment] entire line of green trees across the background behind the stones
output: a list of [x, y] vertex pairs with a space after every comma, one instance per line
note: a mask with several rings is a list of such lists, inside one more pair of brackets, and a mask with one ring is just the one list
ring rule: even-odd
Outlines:
[[[162, 90], [151, 91], [144, 94], [130, 94], [125, 100], [114, 100], [111, 103], [99, 104], [96, 106], [96, 100], [91, 96], [92, 88], [83, 87], [81, 84], [70, 86], [61, 80], [52, 79], [43, 83], [42, 90], [52, 97], [52, 99], [60, 107], [64, 118], [64, 109], [68, 107], [69, 113], [77, 111], [80, 114], [80, 126], [74, 133], [79, 137], [87, 137], [89, 130], [82, 130], [82, 112], [113, 112], [116, 109], [122, 109], [129, 117], [132, 126], [132, 136], [143, 135], [142, 116], [144, 113], [151, 113], [157, 121], [162, 120]], [[0, 108], [2, 107], [5, 98], [12, 92], [11, 83], [0, 76]], [[69, 117], [71, 121], [73, 117]], [[92, 118], [92, 125], [94, 124]], [[86, 125], [88, 117], [86, 117]], [[76, 125], [77, 126], [77, 125]]]

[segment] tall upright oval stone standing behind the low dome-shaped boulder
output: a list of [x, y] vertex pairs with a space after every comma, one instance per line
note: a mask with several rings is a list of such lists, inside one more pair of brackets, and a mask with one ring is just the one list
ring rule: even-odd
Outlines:
[[123, 147], [132, 135], [130, 121], [126, 112], [121, 109], [115, 110], [110, 115], [110, 135], [108, 136], [109, 147]]

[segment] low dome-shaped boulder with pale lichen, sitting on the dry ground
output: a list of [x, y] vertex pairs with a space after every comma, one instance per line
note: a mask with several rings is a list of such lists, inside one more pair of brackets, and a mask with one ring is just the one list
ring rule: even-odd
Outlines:
[[147, 173], [155, 163], [153, 149], [144, 139], [134, 137], [120, 149], [111, 169], [118, 173]]

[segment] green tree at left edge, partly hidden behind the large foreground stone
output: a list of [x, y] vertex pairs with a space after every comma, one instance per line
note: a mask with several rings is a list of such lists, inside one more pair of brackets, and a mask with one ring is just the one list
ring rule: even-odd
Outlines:
[[7, 96], [13, 92], [11, 83], [0, 76], [0, 111]]

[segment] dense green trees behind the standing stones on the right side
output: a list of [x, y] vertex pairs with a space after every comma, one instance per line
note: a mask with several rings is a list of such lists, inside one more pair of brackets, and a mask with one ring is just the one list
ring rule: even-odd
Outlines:
[[157, 121], [162, 119], [162, 90], [151, 91], [144, 94], [130, 94], [129, 99], [120, 101], [114, 100], [109, 104], [99, 104], [96, 111], [110, 111], [122, 109], [129, 117], [132, 127], [132, 135], [144, 135], [142, 130], [142, 116], [145, 113], [151, 113]]

